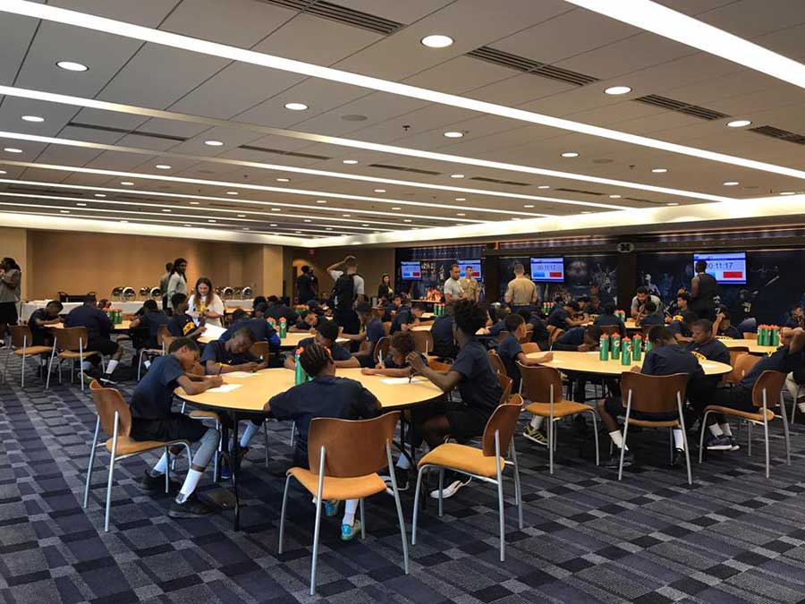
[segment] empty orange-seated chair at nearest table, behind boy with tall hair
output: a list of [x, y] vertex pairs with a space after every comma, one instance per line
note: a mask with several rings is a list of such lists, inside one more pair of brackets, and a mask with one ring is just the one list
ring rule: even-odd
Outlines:
[[[499, 405], [489, 417], [484, 429], [483, 446], [470, 447], [457, 443], [445, 443], [432, 449], [419, 460], [417, 488], [414, 492], [413, 522], [411, 524], [411, 545], [417, 544], [417, 515], [419, 512], [419, 489], [422, 476], [426, 471], [439, 471], [439, 517], [444, 511], [442, 489], [444, 487], [445, 470], [460, 472], [479, 481], [494, 484], [497, 487], [497, 507], [500, 530], [500, 561], [505, 561], [505, 526], [503, 471], [506, 465], [514, 469], [514, 500], [518, 511], [518, 525], [522, 529], [522, 492], [520, 485], [520, 466], [517, 464], [517, 452], [514, 449], [514, 429], [520, 418], [522, 397], [514, 395], [508, 403]], [[505, 451], [511, 460], [505, 457]]]

